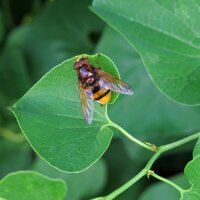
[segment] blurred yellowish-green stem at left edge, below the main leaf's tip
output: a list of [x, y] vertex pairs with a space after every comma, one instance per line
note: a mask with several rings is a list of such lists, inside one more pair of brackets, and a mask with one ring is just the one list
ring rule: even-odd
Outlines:
[[15, 143], [21, 143], [25, 141], [25, 137], [20, 133], [16, 134], [8, 129], [0, 128], [0, 136], [6, 138], [7, 140]]

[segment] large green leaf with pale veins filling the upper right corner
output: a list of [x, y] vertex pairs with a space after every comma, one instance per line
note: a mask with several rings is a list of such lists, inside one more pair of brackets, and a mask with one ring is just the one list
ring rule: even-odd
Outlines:
[[163, 93], [200, 104], [199, 1], [94, 0], [91, 9], [134, 45]]

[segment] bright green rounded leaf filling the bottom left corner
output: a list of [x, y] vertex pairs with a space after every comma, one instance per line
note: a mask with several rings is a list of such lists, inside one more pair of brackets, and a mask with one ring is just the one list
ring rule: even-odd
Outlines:
[[0, 197], [7, 200], [63, 200], [66, 185], [33, 171], [11, 173], [0, 181]]

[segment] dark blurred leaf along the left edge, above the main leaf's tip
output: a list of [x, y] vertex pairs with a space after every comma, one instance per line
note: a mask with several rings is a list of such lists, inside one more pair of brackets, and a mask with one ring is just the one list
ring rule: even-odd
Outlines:
[[19, 44], [23, 32], [18, 35], [11, 33], [0, 52], [0, 126], [4, 128], [14, 119], [7, 107], [30, 87], [26, 62]]

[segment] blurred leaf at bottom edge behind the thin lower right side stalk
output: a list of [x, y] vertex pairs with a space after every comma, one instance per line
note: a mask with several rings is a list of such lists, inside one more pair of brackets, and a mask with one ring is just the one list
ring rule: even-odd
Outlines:
[[[188, 182], [182, 174], [171, 177], [170, 180], [183, 188], [189, 187]], [[145, 189], [138, 200], [177, 200], [179, 198], [180, 193], [172, 186], [163, 182], [156, 182]]]

